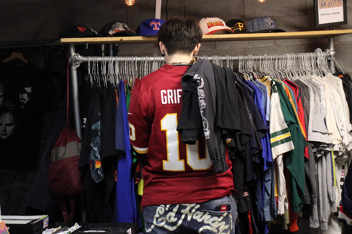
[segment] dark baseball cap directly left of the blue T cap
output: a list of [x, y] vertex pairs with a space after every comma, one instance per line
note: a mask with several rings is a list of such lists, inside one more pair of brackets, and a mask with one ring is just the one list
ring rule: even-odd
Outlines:
[[105, 24], [99, 34], [102, 36], [136, 36], [136, 32], [130, 30], [124, 22], [119, 20]]

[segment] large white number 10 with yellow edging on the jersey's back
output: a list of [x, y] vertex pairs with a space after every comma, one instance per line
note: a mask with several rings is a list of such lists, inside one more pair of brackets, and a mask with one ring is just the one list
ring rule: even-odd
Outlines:
[[[160, 121], [161, 130], [166, 132], [167, 160], [163, 160], [164, 171], [185, 171], [184, 159], [180, 160], [180, 142], [178, 142], [177, 113], [166, 114]], [[200, 158], [199, 142], [195, 145], [186, 145], [187, 164], [194, 171], [207, 170], [212, 167], [207, 146], [205, 145], [205, 158]]]

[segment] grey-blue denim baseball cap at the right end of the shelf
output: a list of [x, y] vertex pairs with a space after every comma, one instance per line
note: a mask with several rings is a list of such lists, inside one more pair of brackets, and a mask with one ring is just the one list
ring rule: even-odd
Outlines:
[[247, 32], [253, 33], [281, 33], [285, 32], [278, 29], [276, 22], [268, 16], [258, 17], [250, 20], [247, 24]]

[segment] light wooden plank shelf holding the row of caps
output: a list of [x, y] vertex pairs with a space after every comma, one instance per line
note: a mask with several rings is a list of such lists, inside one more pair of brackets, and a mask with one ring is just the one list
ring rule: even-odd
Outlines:
[[[244, 34], [217, 34], [203, 35], [202, 41], [252, 41], [252, 40], [283, 40], [300, 38], [324, 38], [327, 36], [341, 36], [352, 33], [352, 29], [325, 30], [286, 33], [244, 33]], [[107, 38], [61, 38], [56, 45], [67, 44], [141, 44], [156, 43], [156, 36], [124, 36]]]

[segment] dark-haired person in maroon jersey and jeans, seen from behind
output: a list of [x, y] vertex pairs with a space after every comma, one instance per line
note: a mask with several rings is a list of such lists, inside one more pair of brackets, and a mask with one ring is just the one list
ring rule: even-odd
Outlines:
[[128, 121], [133, 150], [145, 156], [141, 205], [146, 233], [234, 233], [237, 207], [228, 155], [229, 169], [216, 174], [205, 139], [187, 145], [176, 130], [181, 79], [201, 39], [193, 19], [165, 21], [158, 41], [166, 64], [138, 81], [132, 91]]

